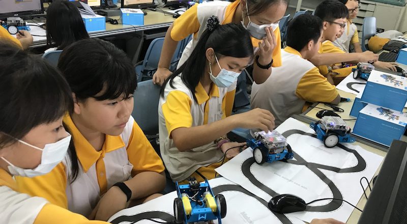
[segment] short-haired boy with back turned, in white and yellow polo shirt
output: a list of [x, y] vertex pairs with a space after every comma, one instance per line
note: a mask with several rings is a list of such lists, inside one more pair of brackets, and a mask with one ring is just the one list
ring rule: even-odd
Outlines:
[[283, 65], [274, 69], [266, 82], [253, 83], [251, 107], [270, 110], [276, 126], [300, 114], [306, 101], [340, 101], [335, 86], [307, 60], [317, 53], [321, 35], [321, 19], [312, 15], [296, 17], [288, 25], [287, 47], [281, 50]]

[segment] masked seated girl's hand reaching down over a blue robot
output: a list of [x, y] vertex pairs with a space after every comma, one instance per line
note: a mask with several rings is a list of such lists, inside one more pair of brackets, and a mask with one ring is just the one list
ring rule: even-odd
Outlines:
[[274, 129], [274, 116], [267, 109], [255, 108], [242, 114], [232, 115], [238, 127], [247, 129], [261, 129], [271, 131]]

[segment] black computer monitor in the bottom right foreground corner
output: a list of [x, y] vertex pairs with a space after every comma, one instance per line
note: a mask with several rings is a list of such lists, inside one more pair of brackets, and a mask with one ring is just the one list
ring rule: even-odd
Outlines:
[[358, 224], [407, 223], [407, 143], [394, 140]]

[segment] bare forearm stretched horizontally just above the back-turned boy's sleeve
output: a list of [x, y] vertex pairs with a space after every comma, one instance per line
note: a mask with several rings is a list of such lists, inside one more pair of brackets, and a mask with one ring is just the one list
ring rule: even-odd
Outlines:
[[317, 53], [309, 61], [315, 66], [332, 65], [342, 62], [359, 62], [359, 53]]

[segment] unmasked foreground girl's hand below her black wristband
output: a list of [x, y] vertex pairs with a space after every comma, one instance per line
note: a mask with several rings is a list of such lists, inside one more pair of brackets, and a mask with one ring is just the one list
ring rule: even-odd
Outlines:
[[107, 221], [115, 213], [127, 207], [127, 197], [123, 191], [117, 187], [112, 186], [102, 196], [98, 205], [95, 207], [89, 219]]

